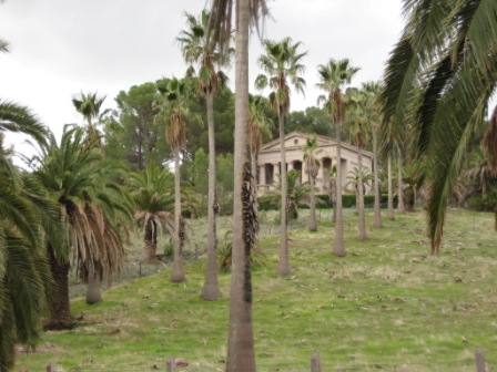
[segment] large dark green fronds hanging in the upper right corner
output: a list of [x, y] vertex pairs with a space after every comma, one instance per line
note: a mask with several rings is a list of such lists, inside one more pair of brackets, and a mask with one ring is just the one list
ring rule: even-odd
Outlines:
[[384, 125], [412, 125], [426, 156], [428, 235], [438, 254], [447, 199], [497, 84], [496, 1], [405, 1], [407, 24], [387, 63]]

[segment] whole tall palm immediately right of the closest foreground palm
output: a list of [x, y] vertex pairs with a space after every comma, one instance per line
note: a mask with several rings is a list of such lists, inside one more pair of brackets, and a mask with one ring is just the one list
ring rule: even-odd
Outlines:
[[280, 42], [264, 40], [263, 45], [265, 54], [258, 58], [258, 64], [268, 76], [260, 74], [255, 79], [255, 86], [260, 90], [263, 90], [267, 85], [271, 86], [273, 92], [271, 93], [270, 100], [274, 111], [277, 113], [280, 132], [280, 176], [282, 184], [281, 247], [277, 272], [281, 276], [287, 276], [291, 273], [291, 268], [286, 220], [287, 210], [285, 204], [288, 193], [285, 155], [285, 115], [290, 112], [290, 84], [292, 84], [297, 92], [304, 93], [305, 80], [302, 78], [302, 74], [305, 72], [305, 66], [302, 64], [302, 59], [307, 53], [298, 52], [301, 43], [293, 43], [290, 38], [285, 38]]

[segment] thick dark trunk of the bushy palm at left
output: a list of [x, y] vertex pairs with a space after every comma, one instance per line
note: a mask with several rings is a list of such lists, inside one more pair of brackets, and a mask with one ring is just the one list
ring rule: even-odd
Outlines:
[[48, 247], [50, 271], [53, 278], [53, 294], [50, 304], [50, 320], [48, 329], [71, 329], [74, 320], [71, 317], [69, 302], [69, 262], [59, 262], [52, 247]]

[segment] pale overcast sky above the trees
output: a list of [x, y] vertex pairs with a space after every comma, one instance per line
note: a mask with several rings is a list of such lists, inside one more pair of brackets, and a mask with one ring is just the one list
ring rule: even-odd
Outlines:
[[[182, 76], [186, 66], [174, 40], [185, 29], [184, 12], [197, 16], [205, 6], [210, 0], [3, 1], [0, 38], [10, 53], [0, 54], [0, 97], [32, 108], [59, 137], [63, 124], [82, 123], [71, 103], [81, 91], [98, 91], [106, 95], [103, 106], [114, 107], [121, 90]], [[292, 111], [316, 105], [316, 68], [331, 58], [348, 58], [361, 68], [353, 85], [379, 80], [404, 23], [402, 0], [270, 0], [268, 6], [264, 37], [291, 37], [308, 52], [306, 95], [292, 95]], [[260, 73], [261, 53], [253, 34], [251, 82]]]

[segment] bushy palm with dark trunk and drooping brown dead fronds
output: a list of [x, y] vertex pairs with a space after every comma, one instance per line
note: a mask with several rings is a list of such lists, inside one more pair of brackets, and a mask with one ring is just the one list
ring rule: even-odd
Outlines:
[[58, 248], [58, 241], [48, 242], [55, 281], [49, 327], [67, 328], [73, 324], [69, 252], [83, 279], [88, 278], [87, 302], [100, 302], [100, 282], [119, 272], [124, 260], [120, 228], [131, 217], [131, 206], [122, 189], [110, 180], [115, 166], [102, 161], [97, 142], [90, 142], [82, 130], [64, 126], [60, 145], [53, 134], [49, 140], [41, 148], [34, 176], [58, 203], [68, 234], [63, 247]]

